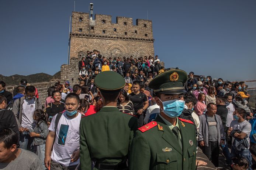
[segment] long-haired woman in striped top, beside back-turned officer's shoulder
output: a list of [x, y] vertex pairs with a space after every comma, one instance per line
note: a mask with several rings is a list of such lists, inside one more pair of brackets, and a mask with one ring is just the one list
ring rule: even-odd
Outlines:
[[125, 90], [122, 90], [121, 95], [117, 99], [117, 108], [120, 110], [120, 112], [134, 115], [133, 104]]

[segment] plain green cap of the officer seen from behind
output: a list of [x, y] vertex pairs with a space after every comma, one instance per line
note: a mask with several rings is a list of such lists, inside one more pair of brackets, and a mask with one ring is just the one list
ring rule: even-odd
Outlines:
[[95, 77], [94, 84], [100, 90], [114, 91], [123, 88], [125, 86], [125, 80], [117, 72], [104, 71]]

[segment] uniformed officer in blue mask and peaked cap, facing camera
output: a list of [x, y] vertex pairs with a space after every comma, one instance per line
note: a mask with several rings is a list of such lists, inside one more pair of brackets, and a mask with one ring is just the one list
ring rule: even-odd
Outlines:
[[187, 73], [172, 69], [149, 83], [160, 113], [136, 131], [131, 146], [130, 170], [195, 170], [196, 133], [193, 122], [178, 118], [185, 105]]

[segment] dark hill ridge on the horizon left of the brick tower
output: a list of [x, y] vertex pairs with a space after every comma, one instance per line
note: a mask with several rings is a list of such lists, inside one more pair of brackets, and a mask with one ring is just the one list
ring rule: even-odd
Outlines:
[[51, 79], [60, 79], [60, 71], [55, 73], [55, 75], [48, 75], [46, 73], [36, 73], [28, 76], [23, 75], [12, 75], [12, 76], [3, 76], [0, 75], [0, 80], [6, 83], [6, 86], [18, 85], [21, 79], [26, 79], [28, 83], [36, 82], [49, 82]]

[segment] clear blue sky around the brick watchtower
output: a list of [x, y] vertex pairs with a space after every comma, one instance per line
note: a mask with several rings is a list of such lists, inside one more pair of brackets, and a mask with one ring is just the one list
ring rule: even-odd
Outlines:
[[[76, 0], [76, 11], [148, 18], [166, 68], [224, 80], [256, 80], [255, 0]], [[0, 74], [53, 75], [67, 63], [73, 0], [0, 1]]]

